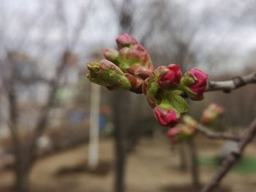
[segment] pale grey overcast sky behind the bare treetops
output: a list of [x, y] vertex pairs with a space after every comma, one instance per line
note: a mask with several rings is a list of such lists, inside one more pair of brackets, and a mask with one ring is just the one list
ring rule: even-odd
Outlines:
[[[63, 0], [64, 1], [64, 0]], [[117, 0], [118, 1], [118, 0]], [[138, 4], [145, 3], [149, 0], [140, 0]], [[230, 65], [234, 69], [241, 69], [243, 63], [249, 57], [252, 57], [253, 51], [256, 53], [256, 3], [254, 0], [174, 0], [186, 7], [188, 12], [186, 15], [193, 18], [196, 22], [200, 22], [202, 17], [208, 15], [208, 20], [203, 28], [197, 31], [197, 36], [193, 44], [193, 49], [197, 50], [198, 58], [203, 63], [207, 62], [209, 55], [232, 55], [227, 62], [227, 68]], [[85, 0], [66, 0], [65, 10], [67, 12], [67, 20], [69, 28], [75, 26], [78, 20], [78, 10], [86, 7], [89, 1]], [[100, 2], [100, 3], [99, 3]], [[110, 7], [108, 0], [93, 1], [93, 10], [89, 13], [86, 28], [81, 34], [81, 45], [84, 46], [80, 50], [86, 54], [89, 49], [97, 48], [97, 46], [113, 46], [114, 39], [118, 33], [115, 23], [116, 15]], [[29, 43], [37, 42], [42, 38], [46, 38], [48, 43], [54, 45], [63, 41], [61, 30], [56, 25], [50, 31], [35, 27], [33, 30], [20, 31], [21, 19], [33, 20], [37, 15], [38, 20], [42, 20], [44, 15], [54, 12], [53, 3], [43, 0], [1, 0], [0, 11], [4, 12], [4, 17], [0, 19], [0, 25], [7, 26], [4, 39], [8, 39], [11, 45], [15, 45], [20, 39], [27, 38]], [[39, 13], [40, 15], [38, 15]], [[185, 13], [184, 13], [185, 14]], [[49, 20], [49, 23], [53, 22]], [[54, 22], [53, 22], [54, 23]], [[67, 28], [67, 30], [69, 30]], [[72, 30], [68, 34], [72, 36]], [[18, 39], [18, 40], [17, 40]]]

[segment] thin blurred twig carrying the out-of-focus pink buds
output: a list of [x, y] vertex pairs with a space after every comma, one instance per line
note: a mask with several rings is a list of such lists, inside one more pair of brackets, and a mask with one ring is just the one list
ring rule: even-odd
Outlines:
[[201, 133], [206, 134], [206, 136], [209, 139], [225, 139], [225, 140], [231, 140], [234, 142], [241, 141], [241, 137], [236, 137], [236, 136], [230, 135], [230, 134], [216, 133], [200, 124], [196, 127], [196, 129], [197, 129], [197, 131], [200, 131]]

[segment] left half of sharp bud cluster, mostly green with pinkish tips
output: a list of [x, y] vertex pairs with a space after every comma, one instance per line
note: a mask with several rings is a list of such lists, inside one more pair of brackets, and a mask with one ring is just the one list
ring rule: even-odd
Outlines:
[[[103, 52], [105, 59], [99, 64], [88, 64], [91, 82], [106, 86], [110, 90], [127, 90], [142, 93], [143, 81], [151, 75], [154, 66], [147, 50], [138, 44], [129, 34], [121, 34], [116, 38], [118, 50], [110, 48]], [[105, 72], [94, 72], [93, 66], [108, 63]], [[96, 74], [97, 73], [97, 74]]]

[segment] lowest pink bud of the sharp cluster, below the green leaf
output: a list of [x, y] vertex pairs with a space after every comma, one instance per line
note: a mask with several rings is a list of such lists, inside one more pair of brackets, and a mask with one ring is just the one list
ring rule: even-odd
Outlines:
[[174, 126], [178, 123], [178, 117], [174, 110], [155, 107], [154, 115], [162, 126]]

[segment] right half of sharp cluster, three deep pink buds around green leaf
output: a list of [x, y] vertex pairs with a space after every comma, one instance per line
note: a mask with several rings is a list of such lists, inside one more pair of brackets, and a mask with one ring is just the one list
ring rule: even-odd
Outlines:
[[184, 97], [202, 100], [207, 81], [208, 75], [199, 69], [189, 69], [182, 75], [177, 64], [159, 66], [143, 82], [143, 93], [159, 123], [174, 126], [181, 114], [188, 111]]

